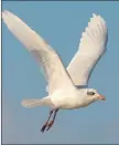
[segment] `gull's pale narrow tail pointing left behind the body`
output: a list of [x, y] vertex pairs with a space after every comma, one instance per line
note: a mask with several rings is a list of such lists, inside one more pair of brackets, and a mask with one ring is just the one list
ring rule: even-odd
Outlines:
[[53, 106], [50, 97], [22, 100], [21, 104], [25, 107]]

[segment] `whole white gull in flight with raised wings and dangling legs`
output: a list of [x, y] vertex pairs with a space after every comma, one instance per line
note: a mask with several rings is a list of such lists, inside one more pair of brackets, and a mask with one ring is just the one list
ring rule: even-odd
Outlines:
[[[47, 96], [26, 99], [21, 102], [25, 107], [50, 106], [48, 118], [41, 132], [52, 127], [58, 110], [80, 108], [93, 102], [106, 100], [97, 90], [88, 89], [89, 76], [107, 50], [108, 29], [106, 21], [100, 15], [93, 13], [82, 34], [78, 51], [67, 69], [65, 69], [56, 51], [20, 18], [4, 10], [2, 11], [2, 20], [44, 70], [47, 81]], [[53, 120], [51, 120], [52, 115]]]

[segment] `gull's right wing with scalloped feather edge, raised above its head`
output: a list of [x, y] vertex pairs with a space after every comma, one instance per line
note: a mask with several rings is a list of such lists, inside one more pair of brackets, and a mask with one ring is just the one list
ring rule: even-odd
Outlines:
[[87, 85], [93, 69], [106, 51], [108, 30], [100, 15], [93, 14], [82, 35], [79, 50], [67, 66], [75, 85]]

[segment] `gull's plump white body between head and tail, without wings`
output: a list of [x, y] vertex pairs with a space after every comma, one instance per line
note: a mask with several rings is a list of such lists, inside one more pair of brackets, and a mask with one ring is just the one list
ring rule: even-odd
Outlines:
[[79, 108], [93, 103], [93, 100], [87, 100], [85, 89], [67, 87], [67, 90], [56, 91], [50, 96], [55, 108]]

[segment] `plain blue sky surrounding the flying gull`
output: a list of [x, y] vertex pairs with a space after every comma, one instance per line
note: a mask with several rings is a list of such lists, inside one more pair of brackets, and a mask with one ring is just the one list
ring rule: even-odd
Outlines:
[[2, 142], [119, 143], [119, 2], [3, 1], [62, 56], [65, 66], [78, 49], [82, 32], [95, 12], [109, 30], [108, 50], [93, 72], [89, 87], [107, 97], [88, 107], [60, 111], [50, 132], [40, 132], [48, 107], [25, 108], [23, 99], [46, 96], [43, 73], [25, 48], [2, 23]]

